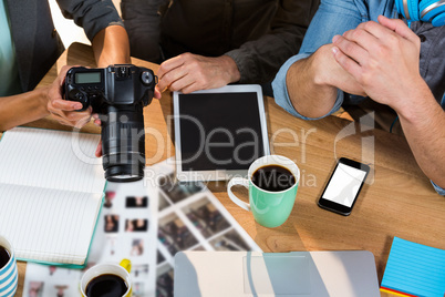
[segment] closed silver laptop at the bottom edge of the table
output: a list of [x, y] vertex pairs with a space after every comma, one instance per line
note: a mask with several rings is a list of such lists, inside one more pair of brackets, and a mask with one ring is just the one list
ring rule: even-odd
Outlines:
[[377, 297], [375, 260], [351, 252], [179, 252], [175, 297]]

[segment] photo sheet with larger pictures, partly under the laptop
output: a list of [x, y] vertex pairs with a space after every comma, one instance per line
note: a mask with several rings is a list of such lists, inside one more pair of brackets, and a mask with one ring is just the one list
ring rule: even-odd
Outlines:
[[159, 188], [156, 297], [173, 297], [179, 250], [256, 250], [259, 246], [203, 183], [179, 183], [172, 161], [151, 167]]

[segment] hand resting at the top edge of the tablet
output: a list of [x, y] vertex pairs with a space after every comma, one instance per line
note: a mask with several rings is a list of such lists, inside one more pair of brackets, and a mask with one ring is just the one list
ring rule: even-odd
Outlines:
[[169, 89], [190, 93], [224, 86], [240, 79], [235, 61], [227, 55], [207, 58], [184, 53], [161, 64], [158, 91]]

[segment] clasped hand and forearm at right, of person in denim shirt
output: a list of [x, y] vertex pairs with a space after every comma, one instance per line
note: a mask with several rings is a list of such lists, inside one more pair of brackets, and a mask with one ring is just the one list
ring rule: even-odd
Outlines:
[[396, 111], [420, 167], [445, 187], [445, 112], [420, 74], [420, 39], [401, 20], [379, 22], [334, 38], [334, 57], [371, 99]]

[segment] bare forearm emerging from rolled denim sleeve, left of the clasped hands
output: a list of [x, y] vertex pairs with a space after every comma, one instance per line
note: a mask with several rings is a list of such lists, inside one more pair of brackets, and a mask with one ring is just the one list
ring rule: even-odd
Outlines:
[[318, 66], [324, 54], [325, 49], [320, 48], [309, 58], [293, 63], [286, 75], [290, 101], [297, 112], [306, 117], [321, 117], [335, 103], [338, 89], [328, 84]]

